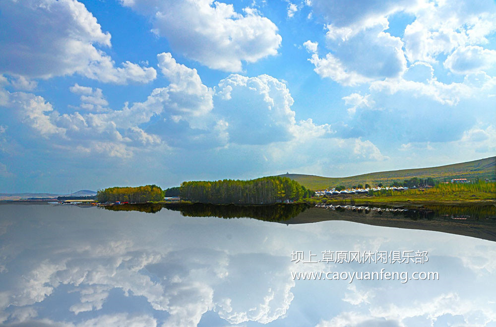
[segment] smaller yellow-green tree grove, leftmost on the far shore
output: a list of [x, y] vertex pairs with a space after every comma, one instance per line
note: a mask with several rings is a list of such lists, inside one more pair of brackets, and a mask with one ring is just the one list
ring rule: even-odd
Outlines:
[[156, 185], [138, 187], [113, 187], [99, 190], [96, 194], [98, 202], [131, 202], [143, 203], [160, 201], [164, 198], [164, 191]]

